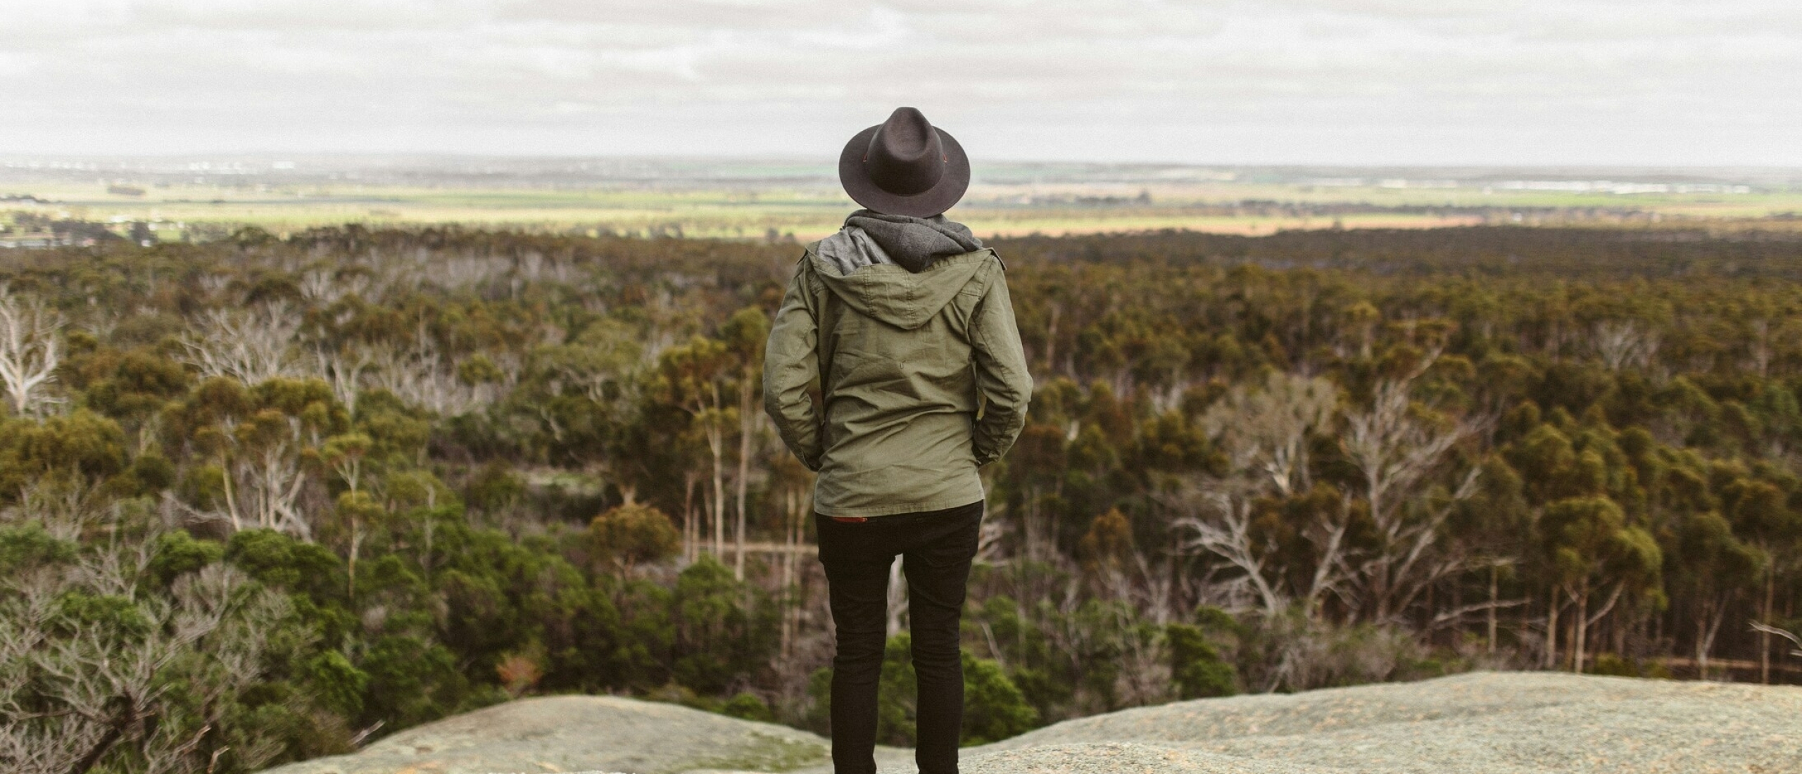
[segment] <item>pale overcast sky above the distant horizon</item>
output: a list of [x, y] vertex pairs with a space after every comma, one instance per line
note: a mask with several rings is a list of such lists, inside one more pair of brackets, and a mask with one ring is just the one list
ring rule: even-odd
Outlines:
[[0, 0], [0, 153], [1802, 166], [1798, 0]]

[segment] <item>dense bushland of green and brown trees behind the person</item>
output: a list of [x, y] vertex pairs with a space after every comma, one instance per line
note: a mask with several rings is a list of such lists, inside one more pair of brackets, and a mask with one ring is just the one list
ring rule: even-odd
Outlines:
[[[968, 742], [1476, 666], [1802, 682], [1797, 238], [997, 247], [1038, 391], [986, 472]], [[822, 727], [809, 479], [757, 385], [796, 257], [0, 252], [0, 761], [252, 770], [557, 691]]]

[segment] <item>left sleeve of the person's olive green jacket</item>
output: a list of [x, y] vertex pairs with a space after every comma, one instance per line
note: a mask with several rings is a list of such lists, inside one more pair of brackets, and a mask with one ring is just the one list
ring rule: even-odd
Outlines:
[[820, 470], [820, 410], [807, 387], [820, 378], [820, 326], [807, 292], [805, 257], [789, 279], [764, 346], [764, 410], [807, 470]]

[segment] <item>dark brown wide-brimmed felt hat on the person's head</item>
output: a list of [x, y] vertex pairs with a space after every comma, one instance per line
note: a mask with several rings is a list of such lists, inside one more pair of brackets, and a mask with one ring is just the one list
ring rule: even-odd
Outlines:
[[932, 218], [969, 189], [969, 158], [919, 110], [896, 108], [888, 121], [845, 142], [838, 184], [872, 211]]

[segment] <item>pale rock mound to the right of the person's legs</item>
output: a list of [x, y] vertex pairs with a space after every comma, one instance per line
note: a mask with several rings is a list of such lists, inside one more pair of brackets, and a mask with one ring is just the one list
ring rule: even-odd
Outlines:
[[1209, 698], [1038, 729], [973, 751], [968, 770], [1114, 770], [1056, 758], [1121, 742], [1123, 758], [1171, 754], [1119, 769], [1135, 772], [1802, 774], [1802, 688], [1487, 671]]

